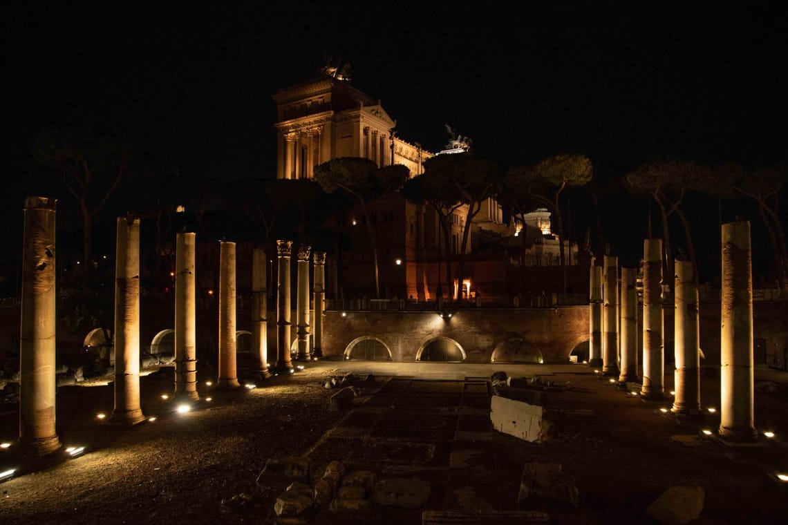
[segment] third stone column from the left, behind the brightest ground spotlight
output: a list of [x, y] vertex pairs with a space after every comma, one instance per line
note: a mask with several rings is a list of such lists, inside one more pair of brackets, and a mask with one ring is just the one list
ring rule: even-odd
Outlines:
[[175, 246], [175, 397], [197, 400], [195, 236], [182, 231]]

